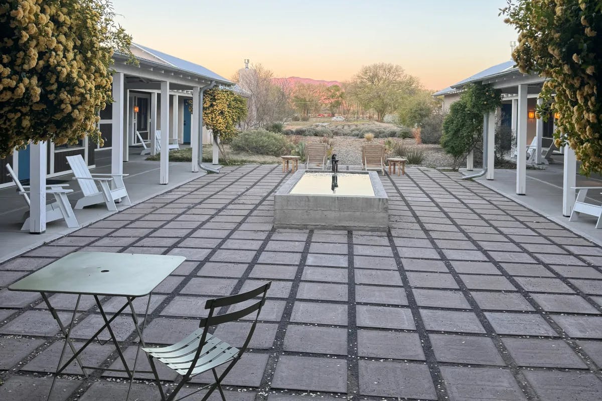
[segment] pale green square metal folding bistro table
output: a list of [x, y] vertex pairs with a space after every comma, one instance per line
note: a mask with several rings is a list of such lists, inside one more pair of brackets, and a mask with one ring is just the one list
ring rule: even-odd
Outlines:
[[[54, 388], [57, 375], [63, 372], [73, 360], [76, 360], [81, 367], [84, 376], [87, 378], [88, 375], [85, 369], [104, 369], [99, 367], [84, 366], [79, 360], [79, 354], [98, 337], [99, 334], [106, 328], [111, 336], [111, 340], [115, 345], [119, 358], [123, 363], [125, 372], [130, 378], [130, 388], [132, 381], [134, 380], [134, 373], [136, 369], [136, 363], [138, 361], [138, 353], [140, 352], [140, 346], [146, 346], [144, 344], [144, 323], [151, 305], [151, 293], [157, 287], [161, 281], [165, 280], [186, 258], [183, 256], [166, 256], [166, 255], [144, 255], [144, 254], [126, 254], [126, 253], [104, 253], [104, 252], [75, 252], [62, 257], [45, 268], [40, 269], [25, 278], [17, 281], [14, 284], [8, 286], [9, 290], [12, 291], [28, 291], [28, 292], [39, 292], [42, 294], [42, 298], [48, 309], [52, 313], [52, 317], [57, 321], [61, 332], [64, 335], [65, 343], [63, 344], [63, 350], [58, 360], [57, 370], [52, 380], [48, 399], [50, 399], [52, 389]], [[78, 295], [75, 308], [73, 308], [73, 316], [69, 328], [66, 329], [58, 317], [57, 311], [50, 304], [48, 293], [66, 293]], [[69, 334], [73, 328], [73, 322], [78, 312], [79, 300], [82, 295], [92, 295], [98, 306], [98, 310], [104, 320], [104, 325], [96, 331], [92, 337], [87, 340], [84, 345], [76, 350], [75, 346], [69, 339]], [[126, 298], [125, 304], [117, 310], [112, 317], [107, 317], [100, 298], [102, 296], [123, 296]], [[146, 304], [146, 312], [144, 313], [144, 320], [142, 326], [138, 325], [138, 319], [134, 310], [132, 301], [135, 298], [141, 296], [148, 296], [148, 302]], [[111, 328], [111, 322], [119, 316], [125, 308], [129, 306], [132, 313], [132, 320], [138, 333], [138, 349], [136, 351], [136, 357], [134, 359], [134, 366], [129, 369], [128, 364], [125, 361], [119, 341], [115, 337], [113, 329]], [[73, 351], [73, 357], [66, 363], [62, 364], [63, 355], [67, 344]], [[104, 369], [111, 370], [111, 369]], [[146, 372], [152, 373], [152, 372]], [[126, 396], [126, 400], [129, 397]]]

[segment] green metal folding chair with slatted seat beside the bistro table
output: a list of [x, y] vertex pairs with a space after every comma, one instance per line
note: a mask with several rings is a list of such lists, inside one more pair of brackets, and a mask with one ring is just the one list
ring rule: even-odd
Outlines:
[[[259, 319], [259, 313], [261, 313], [261, 308], [265, 304], [265, 294], [270, 288], [270, 284], [272, 284], [271, 281], [249, 292], [225, 296], [223, 298], [209, 299], [205, 304], [205, 309], [209, 310], [208, 316], [200, 320], [199, 328], [192, 334], [188, 335], [188, 337], [185, 337], [172, 346], [143, 348], [144, 352], [146, 352], [147, 356], [149, 357], [151, 369], [155, 375], [155, 380], [157, 381], [157, 385], [161, 393], [161, 399], [163, 399], [163, 401], [175, 401], [178, 392], [185, 383], [190, 381], [193, 376], [200, 375], [200, 373], [207, 372], [208, 370], [213, 372], [215, 382], [205, 385], [193, 393], [179, 398], [178, 400], [184, 399], [209, 387], [209, 390], [203, 397], [202, 401], [206, 401], [206, 399], [211, 396], [211, 393], [213, 393], [216, 388], [220, 391], [222, 399], [226, 401], [226, 397], [224, 396], [222, 390], [222, 380], [226, 377], [226, 375], [228, 375], [228, 372], [230, 372], [232, 367], [234, 367], [238, 360], [240, 360], [244, 354], [244, 351], [247, 349], [249, 341], [251, 340], [253, 332], [255, 331], [255, 326], [257, 325], [257, 320]], [[256, 302], [254, 302], [252, 305], [243, 308], [242, 310], [214, 316], [216, 308], [240, 304], [241, 302], [249, 301], [249, 299], [253, 299], [260, 295], [261, 299], [256, 300]], [[240, 349], [231, 346], [230, 344], [220, 340], [208, 332], [211, 326], [232, 322], [253, 312], [256, 312], [255, 320], [253, 320], [253, 324], [249, 329], [249, 334], [247, 334], [247, 339], [244, 341], [244, 344], [242, 347], [240, 347]], [[161, 361], [167, 367], [178, 373], [179, 376], [182, 376], [181, 379], [179, 379], [178, 385], [176, 385], [173, 391], [167, 396], [163, 391], [163, 387], [157, 373], [157, 367], [155, 366], [155, 360]], [[222, 374], [218, 376], [216, 367], [226, 363], [229, 363], [228, 366], [222, 372]]]

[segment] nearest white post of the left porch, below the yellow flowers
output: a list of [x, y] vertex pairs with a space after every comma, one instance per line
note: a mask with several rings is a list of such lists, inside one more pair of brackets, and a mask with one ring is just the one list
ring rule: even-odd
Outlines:
[[46, 162], [47, 142], [29, 145], [29, 232], [46, 231]]

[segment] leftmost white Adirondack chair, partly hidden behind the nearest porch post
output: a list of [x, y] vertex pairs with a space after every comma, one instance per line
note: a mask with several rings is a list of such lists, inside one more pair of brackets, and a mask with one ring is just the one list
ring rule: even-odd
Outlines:
[[[25, 199], [27, 206], [31, 208], [31, 201], [29, 200], [29, 197], [27, 195], [29, 192], [31, 192], [29, 190], [29, 186], [21, 185], [19, 179], [17, 178], [17, 174], [14, 173], [13, 169], [10, 167], [10, 164], [7, 164], [6, 168], [8, 170], [8, 176], [10, 176], [13, 179], [14, 184], [17, 186], [19, 195], [23, 195], [23, 199]], [[73, 213], [71, 204], [67, 199], [67, 194], [73, 192], [73, 189], [64, 189], [64, 186], [69, 186], [69, 184], [46, 185], [46, 195], [52, 194], [54, 195], [55, 199], [54, 202], [46, 204], [46, 222], [48, 223], [55, 220], [65, 219], [67, 227], [79, 227], [79, 223], [75, 218], [75, 213]], [[28, 215], [29, 211], [25, 212], [25, 215], [23, 215], [23, 218], [25, 218], [25, 222], [23, 222], [21, 230], [29, 230], [30, 217]]]

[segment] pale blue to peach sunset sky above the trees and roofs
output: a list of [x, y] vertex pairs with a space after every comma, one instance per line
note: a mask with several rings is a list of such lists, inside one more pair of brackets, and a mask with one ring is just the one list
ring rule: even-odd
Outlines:
[[225, 78], [244, 59], [276, 77], [349, 81], [394, 63], [439, 90], [510, 60], [506, 0], [113, 0], [135, 43]]

